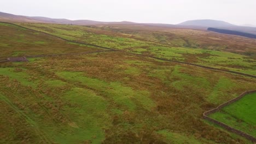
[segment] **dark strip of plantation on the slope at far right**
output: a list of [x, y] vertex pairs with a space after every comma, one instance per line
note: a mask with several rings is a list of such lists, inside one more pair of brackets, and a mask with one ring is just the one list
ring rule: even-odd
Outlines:
[[228, 30], [228, 29], [219, 29], [219, 28], [209, 27], [209, 28], [207, 28], [207, 31], [213, 31], [213, 32], [224, 33], [224, 34], [239, 35], [239, 36], [242, 36], [242, 37], [256, 39], [256, 34], [244, 33], [244, 32], [238, 32], [238, 31], [231, 31], [231, 30]]

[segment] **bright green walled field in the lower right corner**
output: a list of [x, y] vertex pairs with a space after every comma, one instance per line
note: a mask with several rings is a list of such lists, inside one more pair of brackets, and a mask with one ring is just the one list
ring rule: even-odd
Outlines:
[[224, 107], [222, 111], [213, 113], [210, 117], [256, 136], [255, 103], [256, 94], [248, 94], [241, 100]]

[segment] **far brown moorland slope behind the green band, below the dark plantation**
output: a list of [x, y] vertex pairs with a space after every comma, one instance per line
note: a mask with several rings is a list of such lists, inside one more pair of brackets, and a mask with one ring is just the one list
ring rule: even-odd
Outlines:
[[256, 40], [234, 35], [224, 35], [196, 29], [167, 28], [138, 25], [113, 25], [97, 27], [108, 31], [125, 33], [133, 38], [154, 41], [177, 47], [194, 47], [220, 50], [256, 57]]

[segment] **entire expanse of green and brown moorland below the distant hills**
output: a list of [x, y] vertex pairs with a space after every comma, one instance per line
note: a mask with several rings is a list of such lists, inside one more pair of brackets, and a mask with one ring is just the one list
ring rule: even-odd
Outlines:
[[[0, 143], [252, 143], [202, 113], [255, 89], [255, 39], [120, 24], [0, 29], [1, 59], [29, 60], [0, 63]], [[254, 109], [241, 113], [254, 98], [211, 117], [256, 136]]]

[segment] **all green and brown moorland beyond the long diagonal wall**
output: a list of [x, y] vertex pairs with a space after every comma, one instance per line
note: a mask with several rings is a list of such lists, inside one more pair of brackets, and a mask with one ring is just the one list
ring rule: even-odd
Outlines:
[[[127, 26], [115, 28], [40, 23], [18, 24], [68, 40], [255, 75], [256, 40], [254, 39], [193, 29], [166, 28], [165, 32], [162, 32], [164, 29], [146, 31], [141, 27], [139, 27], [141, 29], [127, 30]], [[161, 42], [161, 39], [167, 42]]]

